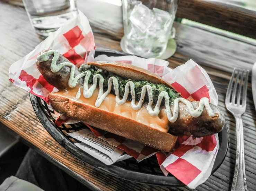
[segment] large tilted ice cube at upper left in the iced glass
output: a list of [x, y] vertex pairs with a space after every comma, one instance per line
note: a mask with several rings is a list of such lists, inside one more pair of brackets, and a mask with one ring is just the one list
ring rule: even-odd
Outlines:
[[151, 9], [143, 4], [138, 4], [132, 10], [129, 20], [144, 33], [155, 22], [156, 18]]

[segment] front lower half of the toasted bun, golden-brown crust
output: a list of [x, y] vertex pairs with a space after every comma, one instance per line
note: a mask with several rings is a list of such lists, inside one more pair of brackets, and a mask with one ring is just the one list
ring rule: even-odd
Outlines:
[[57, 93], [50, 93], [55, 110], [99, 129], [170, 152], [177, 137], [130, 118], [90, 106]]

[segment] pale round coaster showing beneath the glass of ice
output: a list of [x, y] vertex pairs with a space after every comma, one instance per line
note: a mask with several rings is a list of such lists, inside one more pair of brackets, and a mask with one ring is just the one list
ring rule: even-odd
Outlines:
[[[126, 49], [125, 49], [124, 37], [121, 39], [120, 46], [121, 46], [121, 49], [123, 50], [123, 52], [130, 53], [130, 52], [126, 51]], [[167, 47], [166, 47], [164, 53], [162, 53], [161, 56], [156, 57], [156, 58], [161, 59], [161, 60], [166, 60], [166, 59], [170, 58], [171, 56], [173, 56], [173, 54], [176, 52], [176, 49], [177, 49], [176, 41], [173, 38], [170, 38], [168, 40]]]

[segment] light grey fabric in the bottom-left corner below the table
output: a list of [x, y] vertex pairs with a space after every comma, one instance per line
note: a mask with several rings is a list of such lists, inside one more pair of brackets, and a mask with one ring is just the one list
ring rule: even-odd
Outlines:
[[11, 176], [0, 185], [0, 191], [43, 191], [36, 185]]

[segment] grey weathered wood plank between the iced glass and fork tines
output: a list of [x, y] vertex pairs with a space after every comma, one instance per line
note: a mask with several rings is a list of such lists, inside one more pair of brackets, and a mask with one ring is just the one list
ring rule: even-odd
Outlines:
[[[217, 73], [222, 75], [223, 71], [231, 73], [234, 67], [251, 70], [251, 64], [256, 61], [255, 46], [193, 27], [180, 24], [176, 24], [175, 27], [178, 34], [175, 38], [178, 44], [177, 51], [192, 58], [198, 64], [205, 63], [206, 67], [221, 70], [221, 72], [214, 70], [214, 75]], [[186, 36], [181, 36], [179, 33], [186, 33]]]

